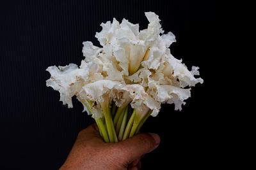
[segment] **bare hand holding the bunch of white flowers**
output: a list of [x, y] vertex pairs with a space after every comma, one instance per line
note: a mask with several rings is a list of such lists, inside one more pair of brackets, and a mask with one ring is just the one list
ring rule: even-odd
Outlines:
[[159, 145], [157, 134], [138, 134], [118, 143], [105, 143], [96, 124], [79, 132], [64, 169], [140, 169], [140, 159]]

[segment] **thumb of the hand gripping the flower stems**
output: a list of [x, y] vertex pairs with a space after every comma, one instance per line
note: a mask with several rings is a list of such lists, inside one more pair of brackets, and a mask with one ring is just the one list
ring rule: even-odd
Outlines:
[[145, 133], [138, 134], [132, 138], [125, 139], [118, 143], [124, 159], [131, 163], [132, 160], [141, 157], [145, 153], [152, 152], [160, 143], [160, 138], [157, 134]]

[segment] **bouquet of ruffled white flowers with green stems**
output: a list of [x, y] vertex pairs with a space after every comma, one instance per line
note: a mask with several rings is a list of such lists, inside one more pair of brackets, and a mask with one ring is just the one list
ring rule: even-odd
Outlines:
[[84, 59], [78, 67], [50, 66], [47, 87], [60, 92], [60, 101], [72, 108], [72, 97], [83, 104], [95, 119], [105, 142], [116, 143], [138, 133], [152, 115], [156, 117], [162, 103], [175, 104], [181, 110], [190, 97], [190, 88], [203, 83], [199, 67], [191, 71], [175, 59], [169, 46], [175, 42], [172, 32], [164, 34], [159, 17], [145, 13], [147, 29], [123, 19], [113, 18], [100, 24], [95, 37], [102, 47], [83, 43]]

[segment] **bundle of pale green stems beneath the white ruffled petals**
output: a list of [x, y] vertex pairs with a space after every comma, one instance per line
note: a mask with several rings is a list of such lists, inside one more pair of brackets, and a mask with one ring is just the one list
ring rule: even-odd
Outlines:
[[[81, 100], [83, 102], [83, 100]], [[83, 104], [93, 114], [93, 101]], [[89, 106], [88, 106], [89, 104]], [[106, 143], [117, 143], [138, 134], [145, 120], [152, 113], [152, 110], [136, 110], [127, 106], [117, 107], [114, 102], [112, 104], [101, 104], [104, 117], [95, 118], [95, 122], [99, 127], [100, 136]]]

